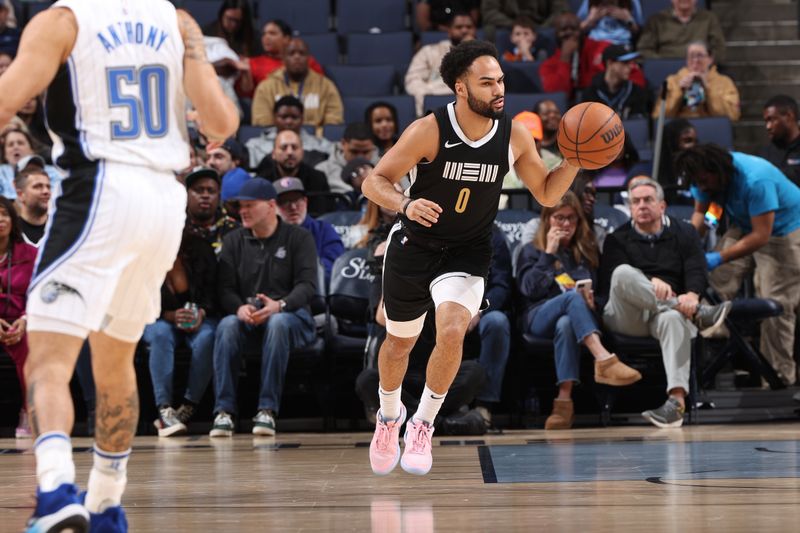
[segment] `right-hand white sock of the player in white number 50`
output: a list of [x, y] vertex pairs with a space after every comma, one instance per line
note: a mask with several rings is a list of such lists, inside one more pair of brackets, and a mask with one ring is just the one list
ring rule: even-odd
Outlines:
[[131, 451], [106, 452], [95, 444], [94, 466], [89, 473], [86, 508], [90, 513], [102, 513], [122, 502], [128, 482], [128, 457]]

